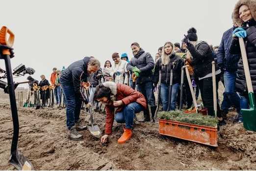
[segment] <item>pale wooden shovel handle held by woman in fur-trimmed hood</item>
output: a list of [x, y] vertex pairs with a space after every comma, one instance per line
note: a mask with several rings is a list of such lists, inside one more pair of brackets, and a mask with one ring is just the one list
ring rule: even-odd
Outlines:
[[249, 69], [249, 64], [248, 64], [248, 61], [247, 61], [247, 55], [246, 55], [246, 50], [245, 50], [245, 45], [244, 45], [243, 38], [239, 38], [239, 44], [240, 44], [240, 49], [241, 49], [243, 65], [244, 65], [244, 73], [245, 73], [245, 79], [246, 79], [246, 84], [247, 84], [247, 88], [248, 88], [248, 93], [250, 93], [250, 92], [253, 93], [254, 89], [253, 89], [253, 85], [252, 85], [250, 69]]

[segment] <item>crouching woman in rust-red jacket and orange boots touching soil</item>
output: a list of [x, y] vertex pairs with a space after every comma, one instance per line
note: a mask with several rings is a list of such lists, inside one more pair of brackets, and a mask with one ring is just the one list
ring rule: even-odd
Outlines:
[[[115, 113], [116, 122], [125, 123], [124, 133], [117, 143], [127, 142], [132, 135], [131, 128], [135, 113], [146, 108], [146, 99], [143, 94], [128, 85], [105, 82], [96, 86], [94, 101], [102, 102], [106, 106], [105, 134], [102, 136], [102, 143], [106, 142], [109, 134], [112, 133]], [[115, 107], [117, 107], [116, 112]]]

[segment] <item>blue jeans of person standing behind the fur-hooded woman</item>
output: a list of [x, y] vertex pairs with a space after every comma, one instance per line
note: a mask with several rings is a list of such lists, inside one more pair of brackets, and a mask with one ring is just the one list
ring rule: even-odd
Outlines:
[[236, 112], [240, 113], [240, 97], [236, 93], [235, 88], [235, 79], [236, 79], [236, 71], [235, 72], [224, 72], [224, 84], [225, 91], [223, 93], [223, 101], [221, 104], [221, 109], [223, 109], [226, 113], [229, 112], [229, 108], [231, 104], [236, 108]]

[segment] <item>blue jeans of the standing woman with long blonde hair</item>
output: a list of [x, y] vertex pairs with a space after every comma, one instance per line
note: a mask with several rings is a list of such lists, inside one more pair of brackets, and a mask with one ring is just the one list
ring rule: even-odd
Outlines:
[[[179, 90], [179, 83], [173, 84], [170, 110], [175, 110], [176, 108], [176, 98], [177, 98], [178, 90]], [[160, 96], [163, 104], [163, 111], [167, 111], [168, 99], [169, 99], [169, 84], [161, 83]]]

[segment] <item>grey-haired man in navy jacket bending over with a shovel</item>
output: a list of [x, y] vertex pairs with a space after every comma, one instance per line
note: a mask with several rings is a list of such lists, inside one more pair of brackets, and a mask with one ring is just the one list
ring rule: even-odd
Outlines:
[[96, 72], [100, 66], [99, 60], [93, 57], [84, 57], [84, 59], [70, 64], [60, 75], [60, 84], [67, 99], [66, 124], [68, 138], [72, 140], [82, 139], [82, 135], [77, 130], [86, 129], [86, 126], [80, 122], [82, 102], [88, 108], [91, 106], [82, 91], [82, 82], [87, 82], [88, 74]]

